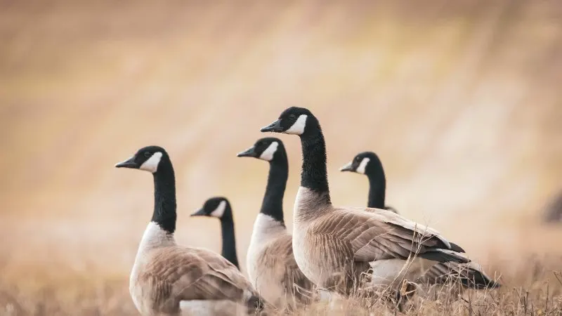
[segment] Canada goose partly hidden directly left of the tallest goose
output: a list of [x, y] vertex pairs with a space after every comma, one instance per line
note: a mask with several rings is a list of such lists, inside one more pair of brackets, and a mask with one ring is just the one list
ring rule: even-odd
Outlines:
[[283, 195], [289, 176], [285, 147], [277, 138], [261, 138], [237, 156], [269, 162], [266, 194], [248, 247], [249, 279], [259, 294], [277, 308], [306, 303], [313, 284], [296, 265], [292, 236], [283, 219]]

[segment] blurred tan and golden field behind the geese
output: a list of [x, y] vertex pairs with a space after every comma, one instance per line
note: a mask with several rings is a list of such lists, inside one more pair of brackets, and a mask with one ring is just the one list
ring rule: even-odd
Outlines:
[[[268, 166], [235, 154], [291, 105], [322, 123], [334, 203], [366, 204], [337, 170], [374, 150], [388, 204], [506, 291], [557, 284], [562, 228], [540, 224], [562, 190], [556, 1], [0, 1], [0, 41], [0, 315], [135, 314], [152, 180], [113, 165], [144, 145], [176, 167], [178, 242], [218, 251], [188, 213], [225, 195], [244, 266]], [[301, 152], [281, 138], [291, 218]]]

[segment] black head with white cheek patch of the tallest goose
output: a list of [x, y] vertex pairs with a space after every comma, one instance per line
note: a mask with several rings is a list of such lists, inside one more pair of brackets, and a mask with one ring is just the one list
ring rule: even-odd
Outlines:
[[289, 107], [281, 113], [277, 121], [263, 127], [261, 131], [302, 136], [312, 133], [318, 127], [318, 120], [311, 111], [304, 107]]

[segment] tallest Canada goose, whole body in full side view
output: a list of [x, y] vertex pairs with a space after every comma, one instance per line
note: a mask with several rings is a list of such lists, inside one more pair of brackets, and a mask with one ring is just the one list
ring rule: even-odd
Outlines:
[[[383, 209], [336, 207], [329, 196], [326, 145], [318, 119], [307, 109], [289, 107], [263, 127], [301, 138], [301, 186], [294, 206], [296, 263], [319, 287], [350, 294], [369, 281], [396, 289], [438, 262], [467, 263], [464, 250], [436, 230]], [[365, 278], [369, 272], [370, 277]], [[395, 282], [398, 281], [398, 282]]]

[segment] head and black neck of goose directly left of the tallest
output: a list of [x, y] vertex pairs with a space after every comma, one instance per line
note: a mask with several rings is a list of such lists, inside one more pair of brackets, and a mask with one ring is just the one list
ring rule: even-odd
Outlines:
[[283, 196], [285, 187], [287, 187], [287, 178], [289, 178], [289, 163], [282, 141], [273, 137], [261, 138], [256, 141], [254, 146], [238, 153], [237, 157], [254, 157], [269, 162], [268, 184], [266, 194], [263, 195], [260, 213], [285, 227]]

